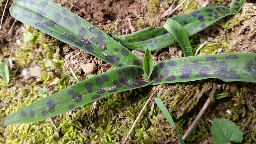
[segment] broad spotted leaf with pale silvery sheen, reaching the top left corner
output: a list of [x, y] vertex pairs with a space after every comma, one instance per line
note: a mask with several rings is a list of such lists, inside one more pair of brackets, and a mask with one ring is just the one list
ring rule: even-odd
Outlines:
[[10, 14], [27, 25], [80, 48], [113, 66], [142, 66], [142, 61], [86, 20], [49, 0], [14, 0]]

